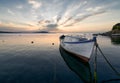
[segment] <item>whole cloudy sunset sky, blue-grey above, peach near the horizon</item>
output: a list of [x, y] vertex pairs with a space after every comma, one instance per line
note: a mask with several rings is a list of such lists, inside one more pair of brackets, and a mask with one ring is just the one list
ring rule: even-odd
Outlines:
[[0, 0], [0, 31], [104, 32], [120, 23], [120, 0]]

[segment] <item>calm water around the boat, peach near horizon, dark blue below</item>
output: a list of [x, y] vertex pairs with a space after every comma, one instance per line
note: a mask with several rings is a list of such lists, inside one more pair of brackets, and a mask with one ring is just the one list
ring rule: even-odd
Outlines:
[[[87, 64], [69, 57], [59, 49], [60, 35], [0, 34], [0, 83], [86, 83], [93, 79], [94, 55]], [[120, 72], [119, 40], [98, 37], [103, 53]], [[97, 56], [97, 81], [120, 83], [120, 75], [100, 53]]]

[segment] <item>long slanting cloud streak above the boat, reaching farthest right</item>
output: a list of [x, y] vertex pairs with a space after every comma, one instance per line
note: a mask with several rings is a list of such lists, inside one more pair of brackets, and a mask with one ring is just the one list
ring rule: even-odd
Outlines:
[[[80, 7], [80, 5], [76, 6], [73, 9], [78, 9], [79, 7]], [[73, 26], [74, 24], [81, 22], [88, 17], [95, 16], [95, 15], [102, 14], [102, 13], [106, 12], [103, 7], [99, 7], [99, 6], [97, 6], [95, 8], [92, 8], [92, 7], [87, 8], [85, 10], [87, 11], [87, 13], [76, 13], [76, 15], [73, 15], [73, 16], [67, 18], [61, 25], [64, 25], [65, 27]], [[73, 21], [73, 22], [68, 23], [69, 21]]]

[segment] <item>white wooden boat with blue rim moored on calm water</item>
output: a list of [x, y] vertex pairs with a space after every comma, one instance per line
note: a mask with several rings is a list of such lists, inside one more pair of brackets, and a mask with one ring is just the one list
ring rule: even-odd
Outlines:
[[88, 39], [79, 36], [60, 36], [60, 46], [84, 62], [88, 62], [93, 51], [96, 37]]

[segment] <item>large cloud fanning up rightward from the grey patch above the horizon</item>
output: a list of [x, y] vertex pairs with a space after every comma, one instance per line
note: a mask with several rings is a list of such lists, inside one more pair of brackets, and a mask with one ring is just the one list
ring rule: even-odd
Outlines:
[[[84, 2], [84, 3], [87, 4], [87, 2]], [[94, 9], [87, 8], [86, 13], [85, 12], [84, 13], [76, 12], [77, 10], [79, 10], [80, 7], [81, 7], [81, 4], [74, 6], [72, 9], [70, 7], [68, 7], [66, 11], [62, 12], [63, 15], [58, 13], [58, 15], [54, 15], [53, 17], [51, 17], [52, 18], [51, 20], [45, 20], [43, 18], [43, 20], [38, 21], [38, 24], [40, 26], [44, 27], [46, 30], [47, 29], [55, 30], [55, 29], [57, 29], [57, 27], [60, 27], [60, 26], [63, 26], [63, 27], [74, 26], [74, 24], [79, 23], [90, 16], [95, 16], [95, 15], [106, 12], [103, 9], [103, 7], [98, 7], [98, 6], [95, 7]]]

